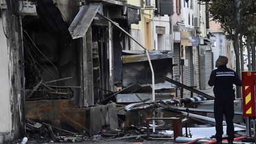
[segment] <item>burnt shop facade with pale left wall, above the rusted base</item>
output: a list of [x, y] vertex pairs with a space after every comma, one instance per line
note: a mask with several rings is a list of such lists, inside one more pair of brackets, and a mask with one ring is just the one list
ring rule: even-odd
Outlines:
[[140, 8], [126, 1], [1, 1], [0, 142], [24, 132], [26, 104], [93, 106], [122, 81], [121, 55]]

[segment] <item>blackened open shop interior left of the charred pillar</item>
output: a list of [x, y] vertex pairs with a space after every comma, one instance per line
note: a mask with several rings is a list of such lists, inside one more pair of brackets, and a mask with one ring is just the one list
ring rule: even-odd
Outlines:
[[[68, 32], [68, 23], [75, 17], [78, 5], [61, 1], [57, 3], [60, 11], [53, 1], [37, 1], [36, 4], [38, 16], [25, 15], [22, 19], [26, 98], [68, 98], [78, 105], [79, 41], [72, 40]], [[63, 9], [72, 10], [62, 14]], [[47, 83], [49, 81], [54, 82]], [[34, 89], [37, 85], [39, 87]]]

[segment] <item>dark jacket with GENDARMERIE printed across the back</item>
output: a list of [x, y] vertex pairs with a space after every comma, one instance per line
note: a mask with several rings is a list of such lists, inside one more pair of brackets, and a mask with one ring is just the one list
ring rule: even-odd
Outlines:
[[235, 71], [221, 65], [212, 71], [208, 84], [214, 85], [215, 98], [233, 98], [233, 84], [242, 86], [242, 81]]

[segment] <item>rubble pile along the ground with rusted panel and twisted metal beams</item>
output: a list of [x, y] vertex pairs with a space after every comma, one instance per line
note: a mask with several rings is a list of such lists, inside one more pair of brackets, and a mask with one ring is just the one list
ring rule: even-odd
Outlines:
[[151, 91], [148, 85], [133, 84], [90, 107], [74, 107], [73, 100], [26, 101], [27, 137], [37, 142], [182, 141], [181, 136], [195, 136], [193, 127], [214, 126], [214, 119], [204, 117], [213, 110], [197, 108], [212, 100], [201, 95], [176, 98], [172, 89], [158, 89], [156, 94], [167, 99], [152, 101]]

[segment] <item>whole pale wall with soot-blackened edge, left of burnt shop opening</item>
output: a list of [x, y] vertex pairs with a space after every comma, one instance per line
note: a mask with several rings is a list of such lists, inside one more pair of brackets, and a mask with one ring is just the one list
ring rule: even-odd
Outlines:
[[0, 21], [1, 39], [1, 119], [0, 143], [20, 136], [22, 129], [22, 44], [17, 1], [6, 1]]

